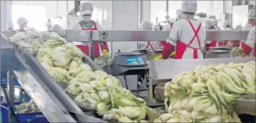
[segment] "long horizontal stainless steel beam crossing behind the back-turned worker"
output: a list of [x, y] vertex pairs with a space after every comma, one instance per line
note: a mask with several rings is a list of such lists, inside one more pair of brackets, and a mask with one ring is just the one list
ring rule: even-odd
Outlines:
[[[89, 42], [90, 31], [65, 30], [66, 39], [70, 42]], [[166, 41], [169, 31], [92, 31], [92, 41]], [[248, 31], [207, 31], [206, 41], [245, 40]]]

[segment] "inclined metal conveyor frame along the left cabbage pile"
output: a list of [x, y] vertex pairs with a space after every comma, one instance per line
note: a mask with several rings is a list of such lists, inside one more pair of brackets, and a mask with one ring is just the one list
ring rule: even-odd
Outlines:
[[[107, 122], [85, 115], [34, 56], [19, 52], [7, 39], [1, 33], [1, 70], [13, 71], [49, 122]], [[102, 70], [87, 56], [83, 61], [94, 70]]]

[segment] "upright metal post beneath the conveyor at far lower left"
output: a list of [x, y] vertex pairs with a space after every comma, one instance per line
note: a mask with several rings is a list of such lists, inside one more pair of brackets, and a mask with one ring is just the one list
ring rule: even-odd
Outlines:
[[14, 82], [15, 82], [15, 74], [13, 73], [13, 71], [8, 71], [7, 73], [7, 82], [8, 82], [8, 85], [7, 85], [7, 95], [8, 95], [8, 99], [9, 99], [9, 102], [10, 102], [10, 105], [9, 105], [9, 108], [8, 108], [8, 119], [9, 119], [9, 122], [14, 122], [15, 121], [15, 118], [12, 114], [12, 111], [10, 110], [10, 107], [15, 107], [14, 105]]

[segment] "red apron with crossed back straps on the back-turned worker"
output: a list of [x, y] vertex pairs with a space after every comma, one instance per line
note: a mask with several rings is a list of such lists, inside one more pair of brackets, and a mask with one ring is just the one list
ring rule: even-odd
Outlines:
[[[187, 47], [194, 49], [193, 58], [194, 58], [194, 59], [197, 59], [197, 58], [198, 58], [197, 50], [201, 48], [200, 39], [198, 38], [198, 35], [197, 35], [197, 33], [199, 32], [199, 30], [200, 30], [200, 28], [201, 28], [201, 23], [199, 24], [197, 30], [195, 30], [194, 26], [193, 26], [192, 23], [189, 21], [189, 19], [186, 18], [186, 20], [189, 22], [189, 24], [190, 24], [191, 28], [193, 29], [195, 35], [194, 35], [194, 37], [190, 40], [189, 44], [184, 44], [184, 43], [181, 42], [181, 41], [178, 41], [178, 42], [177, 42], [177, 52], [176, 52], [176, 55], [175, 55], [175, 59], [182, 59], [182, 57], [183, 57], [183, 55], [184, 55], [184, 52], [185, 52], [185, 50], [186, 50]], [[195, 38], [197, 38], [197, 42], [198, 42], [198, 44], [199, 44], [199, 48], [190, 47], [190, 44], [192, 44], [192, 42], [194, 41]]]

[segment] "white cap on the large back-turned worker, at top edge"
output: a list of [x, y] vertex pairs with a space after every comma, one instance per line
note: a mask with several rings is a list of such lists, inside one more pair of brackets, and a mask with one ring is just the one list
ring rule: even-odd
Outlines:
[[197, 1], [182, 1], [181, 11], [196, 13], [197, 12]]

